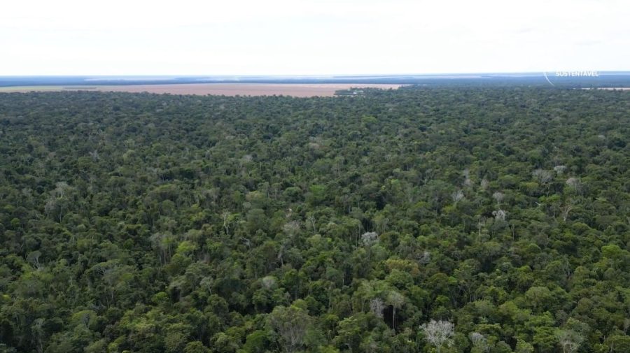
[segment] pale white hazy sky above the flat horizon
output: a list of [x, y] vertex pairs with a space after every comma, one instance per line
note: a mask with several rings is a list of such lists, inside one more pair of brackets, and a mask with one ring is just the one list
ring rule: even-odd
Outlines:
[[0, 5], [0, 75], [630, 70], [626, 0]]

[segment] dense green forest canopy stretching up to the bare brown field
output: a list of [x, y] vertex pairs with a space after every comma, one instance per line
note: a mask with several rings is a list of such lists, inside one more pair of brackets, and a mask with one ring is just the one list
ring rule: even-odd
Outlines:
[[0, 352], [630, 352], [630, 95], [0, 94]]

